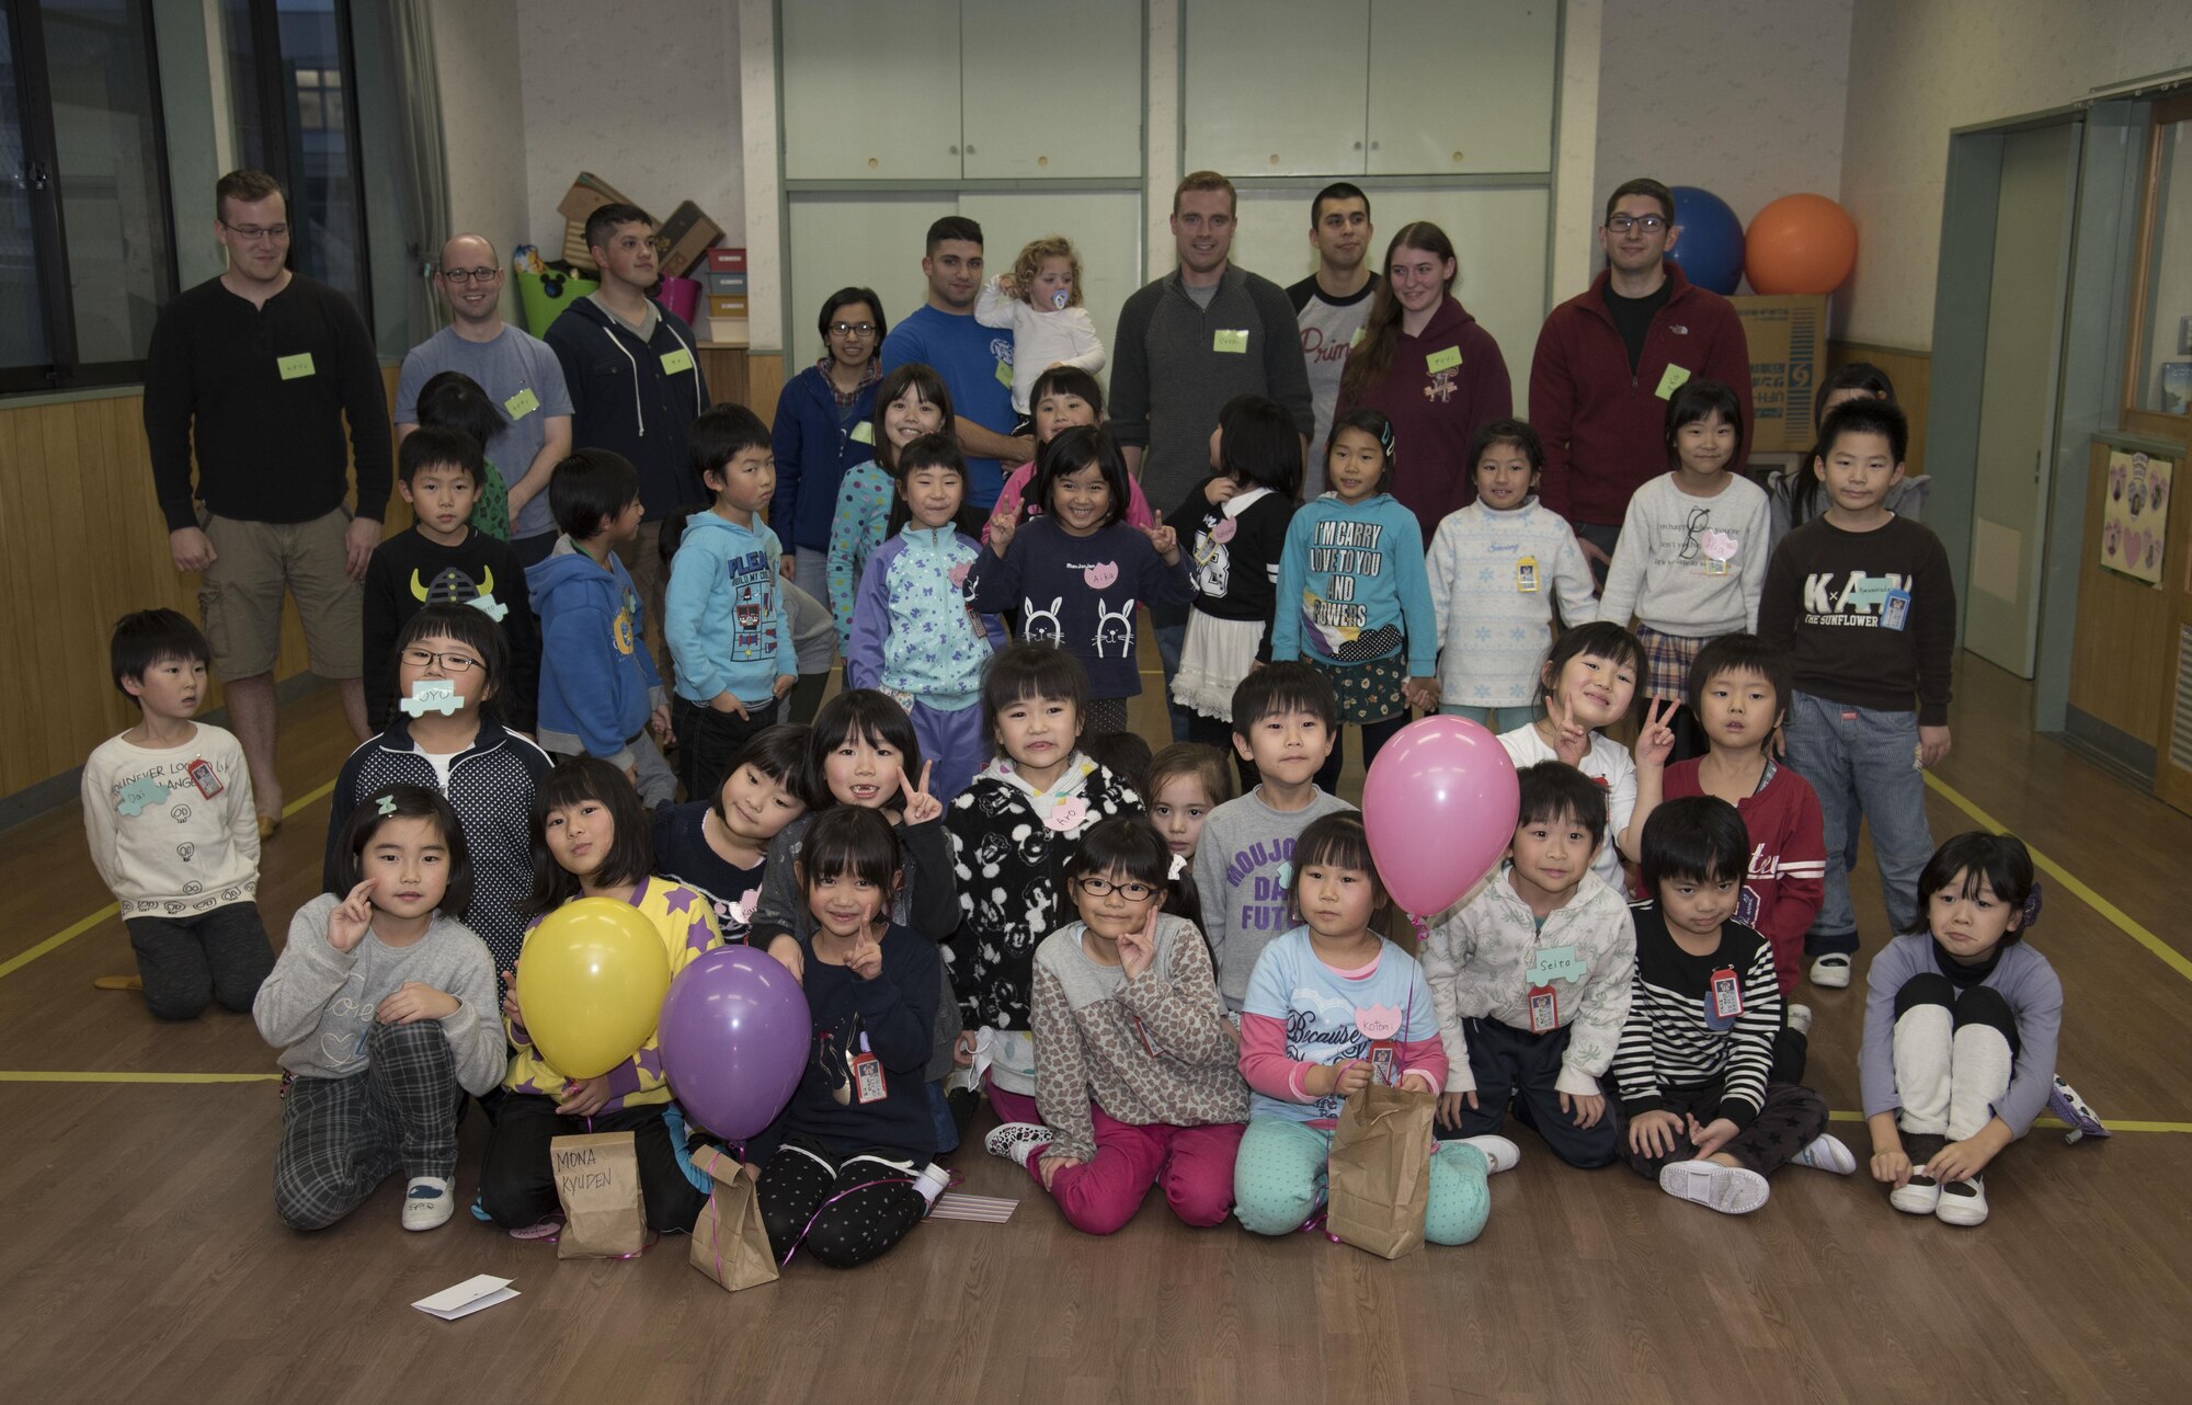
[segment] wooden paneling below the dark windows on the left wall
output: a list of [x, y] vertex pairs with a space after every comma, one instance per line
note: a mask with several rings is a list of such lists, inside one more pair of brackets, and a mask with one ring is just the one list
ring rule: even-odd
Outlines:
[[[395, 403], [397, 368], [381, 381]], [[13, 688], [0, 690], [0, 796], [75, 769], [136, 717], [107, 673], [107, 631], [132, 609], [197, 618], [197, 576], [169, 563], [145, 454], [142, 395], [0, 405], [0, 620]], [[390, 498], [388, 530], [410, 526]], [[307, 666], [296, 605], [278, 679]], [[206, 708], [219, 706], [219, 686]]]

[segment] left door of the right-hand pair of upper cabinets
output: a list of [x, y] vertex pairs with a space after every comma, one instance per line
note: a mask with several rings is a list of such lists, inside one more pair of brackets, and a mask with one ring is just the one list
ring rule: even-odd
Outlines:
[[1363, 169], [1370, 0], [1184, 0], [1181, 169]]

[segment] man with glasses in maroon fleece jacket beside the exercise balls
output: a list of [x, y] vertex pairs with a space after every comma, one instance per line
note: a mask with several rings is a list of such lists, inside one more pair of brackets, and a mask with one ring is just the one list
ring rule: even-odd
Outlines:
[[1631, 180], [1607, 199], [1598, 248], [1607, 267], [1552, 309], [1530, 364], [1530, 423], [1545, 443], [1539, 500], [1576, 528], [1605, 581], [1629, 495], [1666, 462], [1666, 401], [1694, 377], [1743, 401], [1743, 469], [1751, 432], [1751, 353], [1727, 298], [1692, 285], [1666, 256], [1675, 193]]

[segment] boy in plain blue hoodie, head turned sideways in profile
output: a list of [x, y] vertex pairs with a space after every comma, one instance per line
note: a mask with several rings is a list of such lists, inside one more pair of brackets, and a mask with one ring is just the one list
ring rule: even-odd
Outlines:
[[548, 478], [548, 506], [563, 535], [526, 570], [541, 622], [541, 750], [623, 767], [653, 809], [677, 796], [655, 745], [671, 708], [640, 647], [640, 592], [616, 557], [640, 530], [640, 476], [620, 454], [579, 449]]

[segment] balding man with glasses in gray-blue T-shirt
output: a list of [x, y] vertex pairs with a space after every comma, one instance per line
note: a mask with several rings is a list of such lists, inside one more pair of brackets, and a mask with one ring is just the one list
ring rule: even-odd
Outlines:
[[570, 456], [570, 390], [548, 342], [502, 320], [504, 283], [484, 235], [456, 235], [441, 245], [434, 287], [449, 300], [449, 324], [403, 357], [397, 445], [419, 427], [419, 390], [430, 379], [458, 370], [478, 381], [504, 421], [480, 449], [509, 487], [517, 561], [533, 566], [555, 546], [548, 473]]

